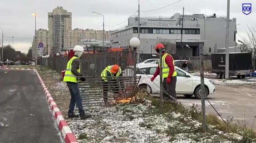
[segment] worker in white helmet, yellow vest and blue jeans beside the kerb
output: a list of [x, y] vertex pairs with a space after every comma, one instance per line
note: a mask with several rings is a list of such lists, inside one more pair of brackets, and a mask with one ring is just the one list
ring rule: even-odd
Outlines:
[[[92, 116], [89, 114], [86, 115], [83, 110], [82, 97], [80, 95], [77, 82], [77, 77], [80, 77], [81, 81], [85, 81], [85, 78], [80, 73], [80, 59], [84, 53], [83, 50], [83, 47], [80, 45], [76, 45], [74, 47], [74, 56], [67, 62], [67, 69], [63, 79], [64, 82], [67, 82], [67, 87], [71, 95], [69, 110], [67, 113], [68, 118], [78, 118], [80, 116], [80, 119], [87, 119]], [[75, 104], [78, 107], [79, 115], [74, 114]]]

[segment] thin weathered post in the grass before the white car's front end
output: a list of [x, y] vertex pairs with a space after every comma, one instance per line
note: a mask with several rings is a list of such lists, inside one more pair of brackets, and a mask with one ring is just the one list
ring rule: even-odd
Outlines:
[[203, 45], [199, 44], [200, 47], [200, 76], [201, 76], [201, 105], [202, 105], [202, 127], [206, 130], [206, 113], [205, 113], [205, 93], [204, 93], [204, 52]]

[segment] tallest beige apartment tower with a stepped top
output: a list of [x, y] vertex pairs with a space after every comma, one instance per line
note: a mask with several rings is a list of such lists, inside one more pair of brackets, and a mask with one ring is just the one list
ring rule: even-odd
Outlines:
[[66, 31], [72, 29], [72, 13], [67, 12], [62, 7], [57, 7], [52, 12], [48, 12], [48, 40], [52, 41], [48, 50], [56, 54], [64, 48]]

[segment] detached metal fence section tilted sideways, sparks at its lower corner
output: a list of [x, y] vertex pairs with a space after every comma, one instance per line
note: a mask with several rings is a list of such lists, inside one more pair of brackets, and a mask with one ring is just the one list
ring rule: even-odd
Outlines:
[[116, 78], [114, 81], [107, 82], [99, 76], [86, 76], [85, 82], [80, 81], [78, 85], [83, 98], [83, 106], [92, 107], [130, 103], [136, 94], [136, 87], [141, 77], [119, 76]]

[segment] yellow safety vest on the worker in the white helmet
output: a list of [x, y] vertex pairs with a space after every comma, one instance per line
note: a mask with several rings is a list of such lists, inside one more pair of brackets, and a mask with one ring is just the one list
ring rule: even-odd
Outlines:
[[[77, 83], [76, 76], [71, 72], [72, 62], [76, 58], [78, 58], [78, 57], [74, 56], [67, 62], [67, 69], [66, 69], [64, 79], [63, 79], [64, 82], [69, 81], [69, 82]], [[79, 60], [79, 58], [78, 58], [78, 60]], [[81, 65], [80, 65], [80, 60], [79, 60], [79, 69], [77, 69], [77, 71], [80, 72], [80, 69], [81, 69]]]

